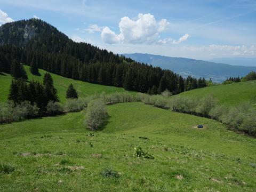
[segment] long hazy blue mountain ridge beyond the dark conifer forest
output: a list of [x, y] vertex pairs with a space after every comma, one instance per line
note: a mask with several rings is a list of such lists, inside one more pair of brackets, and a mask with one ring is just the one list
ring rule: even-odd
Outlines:
[[187, 77], [212, 78], [214, 82], [225, 81], [228, 77], [245, 76], [250, 71], [256, 71], [256, 67], [233, 66], [224, 63], [215, 63], [210, 61], [195, 60], [188, 58], [166, 57], [162, 55], [131, 53], [122, 54], [138, 62], [147, 63], [154, 67], [173, 70], [175, 73]]

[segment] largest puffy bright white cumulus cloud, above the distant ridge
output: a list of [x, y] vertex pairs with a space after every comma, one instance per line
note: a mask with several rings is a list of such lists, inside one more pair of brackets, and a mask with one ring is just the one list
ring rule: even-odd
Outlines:
[[[160, 39], [159, 33], [163, 32], [170, 23], [166, 19], [156, 21], [154, 15], [139, 13], [137, 20], [129, 17], [121, 18], [119, 22], [120, 33], [116, 34], [109, 27], [103, 28], [101, 38], [105, 43], [170, 43], [173, 39]], [[182, 36], [175, 44], [185, 41], [189, 35]]]

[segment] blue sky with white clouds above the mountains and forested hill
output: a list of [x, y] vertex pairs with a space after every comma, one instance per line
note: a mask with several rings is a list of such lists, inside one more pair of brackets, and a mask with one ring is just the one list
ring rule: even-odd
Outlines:
[[38, 17], [114, 53], [256, 57], [256, 0], [0, 0], [0, 24]]

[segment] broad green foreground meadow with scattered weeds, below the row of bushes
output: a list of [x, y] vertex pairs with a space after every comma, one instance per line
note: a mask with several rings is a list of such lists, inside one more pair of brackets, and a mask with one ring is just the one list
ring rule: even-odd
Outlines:
[[[109, 122], [104, 130], [97, 132], [97, 137], [86, 136], [89, 131], [83, 127], [83, 112], [0, 125], [0, 163], [10, 162], [15, 166], [13, 173], [0, 174], [0, 191], [253, 191], [256, 188], [255, 168], [250, 166], [256, 163], [255, 139], [228, 131], [210, 119], [142, 103], [111, 105], [108, 113]], [[195, 129], [196, 124], [204, 124], [206, 128]], [[149, 139], [141, 140], [139, 136]], [[134, 146], [153, 153], [155, 159], [134, 157]], [[20, 153], [44, 155], [23, 157]], [[68, 159], [69, 163], [60, 164], [62, 159]], [[84, 169], [63, 168], [75, 165]], [[106, 167], [120, 172], [121, 177], [108, 179], [100, 175]], [[182, 180], [176, 178], [179, 174]]]

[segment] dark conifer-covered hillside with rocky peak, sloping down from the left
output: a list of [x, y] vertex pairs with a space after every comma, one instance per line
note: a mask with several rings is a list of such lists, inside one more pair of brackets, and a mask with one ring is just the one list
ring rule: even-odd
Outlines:
[[15, 59], [63, 77], [126, 90], [159, 93], [167, 89], [177, 94], [186, 87], [196, 88], [186, 86], [189, 81], [171, 70], [135, 62], [91, 44], [75, 43], [42, 20], [6, 23], [0, 27], [0, 39], [0, 71], [5, 73], [11, 73]]

